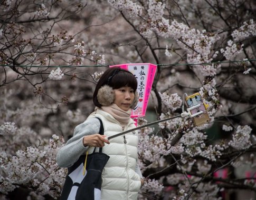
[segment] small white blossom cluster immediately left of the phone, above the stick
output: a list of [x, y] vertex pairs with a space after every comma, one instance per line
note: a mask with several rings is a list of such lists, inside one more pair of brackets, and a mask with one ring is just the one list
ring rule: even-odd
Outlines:
[[182, 98], [178, 96], [177, 93], [169, 95], [164, 92], [163, 94], [159, 93], [162, 102], [172, 111], [175, 111], [177, 108], [182, 105]]

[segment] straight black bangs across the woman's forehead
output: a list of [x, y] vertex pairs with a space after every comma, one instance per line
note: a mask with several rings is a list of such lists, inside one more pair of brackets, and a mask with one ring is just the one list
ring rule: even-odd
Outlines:
[[113, 76], [109, 83], [109, 86], [111, 86], [113, 89], [128, 86], [134, 89], [134, 91], [136, 91], [137, 85], [138, 83], [135, 76], [125, 71], [119, 71], [116, 75]]

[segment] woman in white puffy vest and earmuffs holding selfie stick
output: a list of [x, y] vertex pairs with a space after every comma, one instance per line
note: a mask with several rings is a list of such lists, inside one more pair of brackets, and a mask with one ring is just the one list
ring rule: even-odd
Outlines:
[[[117, 67], [109, 68], [101, 76], [93, 94], [95, 111], [74, 129], [74, 135], [60, 149], [57, 163], [72, 166], [85, 152], [103, 147], [110, 156], [102, 172], [101, 199], [137, 199], [143, 176], [137, 164], [138, 133], [128, 133], [108, 141], [106, 137], [135, 128], [131, 109], [138, 102], [135, 76]], [[99, 117], [104, 135], [100, 135]], [[107, 145], [105, 145], [105, 143]]]

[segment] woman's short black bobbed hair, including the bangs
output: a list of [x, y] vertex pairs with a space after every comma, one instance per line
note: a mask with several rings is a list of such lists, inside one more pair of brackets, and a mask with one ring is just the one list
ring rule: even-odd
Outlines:
[[119, 67], [108, 68], [100, 77], [93, 93], [93, 104], [97, 107], [101, 107], [97, 95], [99, 88], [103, 85], [109, 85], [113, 89], [128, 86], [134, 89], [135, 92], [138, 83], [136, 77], [126, 69], [121, 69]]

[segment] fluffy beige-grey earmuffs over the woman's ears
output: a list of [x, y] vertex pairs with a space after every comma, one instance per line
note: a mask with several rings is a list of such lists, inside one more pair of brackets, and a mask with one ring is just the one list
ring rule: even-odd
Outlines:
[[[102, 106], [110, 106], [115, 100], [115, 93], [113, 91], [113, 88], [109, 85], [101, 86], [97, 94], [97, 99]], [[138, 101], [139, 94], [136, 91], [134, 95], [134, 101], [131, 103], [131, 109], [134, 109], [136, 107]]]

